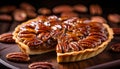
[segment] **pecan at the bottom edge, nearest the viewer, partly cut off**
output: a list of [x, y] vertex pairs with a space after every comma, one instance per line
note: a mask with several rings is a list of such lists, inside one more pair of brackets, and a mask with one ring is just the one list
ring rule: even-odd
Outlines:
[[54, 69], [49, 62], [34, 62], [28, 66], [29, 69]]

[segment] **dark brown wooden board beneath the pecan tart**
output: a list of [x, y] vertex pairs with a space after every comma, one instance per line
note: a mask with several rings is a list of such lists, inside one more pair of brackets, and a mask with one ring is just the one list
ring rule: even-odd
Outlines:
[[[88, 68], [88, 67], [95, 66], [98, 64], [120, 59], [120, 55], [119, 55], [120, 53], [115, 53], [110, 50], [110, 46], [114, 43], [118, 43], [119, 40], [120, 40], [119, 36], [116, 36], [111, 41], [111, 43], [109, 43], [108, 47], [102, 53], [98, 54], [95, 57], [92, 57], [90, 59], [83, 60], [83, 61], [72, 62], [72, 63], [61, 63], [61, 64], [58, 64], [56, 61], [55, 51], [41, 54], [41, 55], [30, 56], [31, 60], [28, 63], [15, 63], [15, 62], [8, 61], [6, 60], [6, 57], [5, 57], [6, 54], [10, 52], [20, 51], [20, 49], [18, 48], [17, 44], [0, 43], [0, 59], [4, 61], [3, 62], [4, 65], [10, 68], [16, 67], [20, 69], [27, 69], [28, 65], [32, 62], [48, 61], [48, 62], [53, 63], [55, 69], [84, 69], [84, 68]], [[8, 64], [12, 66], [9, 66]]]

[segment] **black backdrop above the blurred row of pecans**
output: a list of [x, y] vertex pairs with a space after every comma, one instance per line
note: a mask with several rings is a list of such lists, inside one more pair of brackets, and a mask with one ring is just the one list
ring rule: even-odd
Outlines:
[[[48, 7], [53, 8], [54, 6], [61, 5], [61, 4], [69, 4], [69, 5], [75, 5], [75, 4], [84, 4], [86, 6], [89, 6], [91, 4], [99, 4], [102, 6], [103, 9], [106, 9], [106, 12], [120, 12], [120, 5], [119, 0], [1, 0], [0, 5], [16, 5], [18, 6], [22, 2], [28, 2], [38, 7]], [[110, 10], [107, 10], [110, 9]]]

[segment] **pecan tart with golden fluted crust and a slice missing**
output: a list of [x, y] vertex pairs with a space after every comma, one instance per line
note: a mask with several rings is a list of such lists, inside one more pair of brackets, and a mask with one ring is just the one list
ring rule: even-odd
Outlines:
[[30, 55], [56, 50], [58, 62], [74, 62], [101, 53], [113, 38], [105, 23], [78, 17], [38, 16], [15, 28], [13, 39]]

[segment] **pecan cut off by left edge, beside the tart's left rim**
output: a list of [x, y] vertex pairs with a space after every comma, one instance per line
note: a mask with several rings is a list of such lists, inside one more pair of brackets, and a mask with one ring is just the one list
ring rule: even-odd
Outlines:
[[0, 42], [4, 43], [15, 43], [15, 40], [12, 38], [12, 33], [4, 33], [0, 35]]

